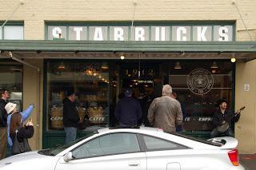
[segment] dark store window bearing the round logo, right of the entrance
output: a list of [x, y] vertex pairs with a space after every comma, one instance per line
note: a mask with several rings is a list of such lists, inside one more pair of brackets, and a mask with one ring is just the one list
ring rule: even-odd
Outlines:
[[232, 109], [233, 68], [230, 61], [174, 61], [169, 83], [182, 105], [184, 129], [211, 130], [219, 99]]

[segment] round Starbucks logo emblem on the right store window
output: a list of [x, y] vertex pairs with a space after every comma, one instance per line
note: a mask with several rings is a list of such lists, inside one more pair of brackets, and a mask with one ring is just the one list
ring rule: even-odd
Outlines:
[[187, 76], [187, 86], [195, 94], [206, 94], [214, 85], [214, 77], [206, 69], [194, 69]]

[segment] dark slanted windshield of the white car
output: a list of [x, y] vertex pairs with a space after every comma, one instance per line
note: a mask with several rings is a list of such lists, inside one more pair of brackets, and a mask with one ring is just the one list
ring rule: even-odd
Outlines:
[[48, 148], [48, 149], [42, 149], [40, 151], [38, 151], [39, 154], [42, 155], [47, 155], [47, 156], [55, 156], [58, 153], [64, 151], [66, 148], [70, 148], [70, 146], [72, 146], [73, 144], [78, 143], [81, 140], [86, 139], [87, 137], [93, 136], [94, 134], [97, 134], [98, 131], [94, 131], [94, 132], [90, 132], [88, 134], [86, 134], [86, 136], [83, 136], [77, 140], [71, 141], [69, 144], [63, 144], [61, 146], [58, 146], [56, 148]]

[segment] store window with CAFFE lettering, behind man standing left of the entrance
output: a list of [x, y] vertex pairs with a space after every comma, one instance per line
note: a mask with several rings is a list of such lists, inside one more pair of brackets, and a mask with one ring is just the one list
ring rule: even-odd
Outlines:
[[94, 130], [109, 123], [109, 65], [105, 61], [47, 61], [47, 129], [63, 129], [67, 91], [77, 93], [78, 129]]

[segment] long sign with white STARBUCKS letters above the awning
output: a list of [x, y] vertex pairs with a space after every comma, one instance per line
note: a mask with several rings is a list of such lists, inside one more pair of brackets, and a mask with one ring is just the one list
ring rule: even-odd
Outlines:
[[47, 39], [89, 41], [162, 41], [162, 42], [232, 42], [234, 26], [223, 25], [148, 25], [142, 26], [65, 26], [48, 25]]

